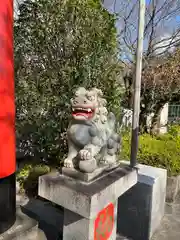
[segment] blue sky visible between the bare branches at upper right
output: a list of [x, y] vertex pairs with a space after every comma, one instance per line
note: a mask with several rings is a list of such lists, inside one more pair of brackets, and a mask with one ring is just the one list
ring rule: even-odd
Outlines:
[[[138, 29], [138, 1], [137, 0], [126, 0], [126, 1], [124, 1], [124, 0], [105, 0], [105, 2], [108, 3], [107, 5], [110, 7], [111, 11], [112, 11], [112, 9], [114, 9], [113, 3], [116, 3], [116, 7], [115, 7], [116, 12], [121, 11], [124, 8], [124, 6], [127, 6], [123, 12], [121, 11], [121, 20], [117, 24], [117, 28], [119, 29], [119, 31], [121, 31], [121, 29], [123, 29], [125, 26], [124, 25], [125, 23], [123, 21], [123, 14], [124, 14], [124, 16], [128, 16], [129, 11], [132, 9], [132, 6], [136, 3], [133, 14], [131, 14], [131, 17], [128, 18], [128, 22], [126, 22], [126, 28], [128, 29], [126, 31], [128, 33], [127, 39], [130, 39], [131, 42], [134, 42], [137, 38], [137, 29]], [[111, 2], [111, 6], [110, 6], [110, 2]], [[146, 0], [147, 7], [151, 2], [152, 2], [152, 0]], [[164, 12], [159, 11], [158, 15], [156, 16], [156, 20], [155, 20], [156, 22], [158, 22], [159, 19], [162, 17], [162, 14], [166, 13], [167, 11], [172, 11], [174, 8], [177, 8], [177, 4], [178, 4], [178, 6], [180, 6], [179, 0], [174, 1], [173, 4], [170, 4], [169, 2], [167, 3], [166, 0], [159, 0], [159, 1], [157, 1], [157, 4], [158, 4], [157, 9], [161, 9], [162, 7], [164, 7], [164, 3], [167, 4], [166, 8], [164, 8]], [[149, 16], [147, 14], [146, 15], [146, 23], [148, 22], [148, 20], [149, 20]], [[156, 30], [155, 30], [155, 36], [153, 37], [154, 41], [158, 42], [158, 41], [161, 41], [162, 39], [164, 39], [165, 37], [171, 37], [171, 35], [178, 28], [180, 28], [180, 11], [175, 13], [173, 16], [171, 16], [169, 18], [167, 18], [167, 17], [163, 18], [163, 20], [161, 20], [157, 24]], [[145, 36], [145, 39], [144, 39], [144, 50], [147, 49], [150, 32], [151, 32], [151, 27], [147, 31], [147, 35]], [[120, 39], [122, 39], [123, 36], [124, 35], [122, 35], [122, 37], [120, 36]], [[130, 43], [130, 41], [129, 41], [129, 43]], [[165, 44], [167, 45], [167, 42]], [[130, 43], [130, 45], [131, 45], [131, 43]]]

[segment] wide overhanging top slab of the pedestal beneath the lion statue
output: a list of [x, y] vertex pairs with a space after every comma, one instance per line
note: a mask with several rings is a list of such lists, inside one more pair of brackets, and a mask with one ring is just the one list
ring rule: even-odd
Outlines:
[[51, 173], [39, 178], [39, 196], [92, 219], [136, 183], [137, 171], [129, 165], [122, 165], [88, 185]]

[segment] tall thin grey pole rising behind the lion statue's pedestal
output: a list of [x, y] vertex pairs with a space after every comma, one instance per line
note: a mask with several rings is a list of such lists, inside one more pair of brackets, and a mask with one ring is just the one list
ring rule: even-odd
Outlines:
[[131, 159], [130, 159], [131, 167], [135, 167], [137, 165], [145, 9], [146, 9], [145, 0], [139, 0], [139, 24], [138, 24], [138, 41], [137, 41], [137, 52], [136, 52], [136, 77], [135, 77], [134, 89], [133, 89], [134, 97], [133, 97], [133, 122], [132, 122]]

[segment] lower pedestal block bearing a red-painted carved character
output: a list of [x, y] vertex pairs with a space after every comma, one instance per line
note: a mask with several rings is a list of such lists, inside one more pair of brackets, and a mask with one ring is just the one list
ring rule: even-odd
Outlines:
[[84, 218], [65, 209], [63, 240], [116, 240], [116, 226], [117, 202], [109, 204], [94, 219]]

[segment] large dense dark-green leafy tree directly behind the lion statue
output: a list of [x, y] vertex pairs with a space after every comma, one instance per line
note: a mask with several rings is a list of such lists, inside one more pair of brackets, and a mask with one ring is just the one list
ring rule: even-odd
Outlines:
[[115, 18], [98, 0], [25, 1], [15, 23], [18, 146], [61, 159], [74, 89], [101, 88], [116, 114], [121, 69]]

